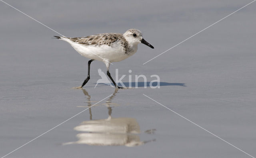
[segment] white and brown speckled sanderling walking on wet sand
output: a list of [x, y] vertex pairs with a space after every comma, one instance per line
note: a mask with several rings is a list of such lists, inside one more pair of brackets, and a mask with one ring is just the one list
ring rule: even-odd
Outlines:
[[99, 60], [106, 64], [107, 75], [116, 88], [122, 89], [114, 82], [110, 76], [109, 66], [111, 62], [124, 60], [136, 53], [138, 43], [143, 43], [154, 49], [142, 37], [142, 33], [138, 29], [129, 29], [124, 34], [121, 33], [100, 33], [87, 37], [60, 37], [54, 36], [57, 39], [68, 42], [78, 53], [91, 60], [88, 61], [88, 76], [84, 80], [82, 88], [88, 80], [90, 80], [90, 64], [93, 60]]

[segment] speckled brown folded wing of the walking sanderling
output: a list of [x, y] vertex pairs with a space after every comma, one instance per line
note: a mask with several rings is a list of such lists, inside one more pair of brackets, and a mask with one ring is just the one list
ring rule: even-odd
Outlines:
[[108, 45], [110, 46], [115, 41], [126, 41], [121, 33], [101, 33], [96, 35], [90, 35], [87, 37], [76, 37], [68, 38], [73, 42], [82, 44], [82, 45]]

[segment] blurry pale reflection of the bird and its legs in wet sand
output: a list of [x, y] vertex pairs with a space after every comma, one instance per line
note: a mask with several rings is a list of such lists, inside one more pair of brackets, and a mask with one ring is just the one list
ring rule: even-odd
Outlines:
[[[86, 96], [88, 106], [92, 106], [91, 96], [82, 89]], [[90, 121], [83, 121], [80, 125], [74, 127], [75, 131], [79, 131], [76, 142], [67, 142], [64, 144], [88, 144], [95, 146], [140, 146], [154, 140], [140, 141], [140, 126], [136, 119], [119, 117], [112, 118], [112, 107], [118, 106], [112, 103], [112, 100], [118, 93], [118, 89], [107, 99], [106, 105], [108, 109], [107, 119], [92, 120], [92, 109], [89, 108]], [[149, 133], [151, 131], [152, 133]], [[145, 133], [153, 134], [155, 129], [145, 131]]]

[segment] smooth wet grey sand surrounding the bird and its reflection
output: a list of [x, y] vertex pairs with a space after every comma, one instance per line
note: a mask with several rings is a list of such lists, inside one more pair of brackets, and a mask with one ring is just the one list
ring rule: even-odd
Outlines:
[[[112, 99], [112, 117], [129, 117], [140, 125], [142, 146], [62, 145], [78, 140], [74, 127], [89, 120], [89, 112], [53, 129], [6, 156], [44, 157], [250, 157], [172, 113], [142, 93], [194, 121], [248, 154], [256, 156], [256, 2], [202, 33], [142, 65], [156, 55], [220, 20], [251, 0], [6, 0], [67, 37], [140, 29], [155, 49], [140, 44], [132, 57], [110, 66], [115, 78], [128, 70], [157, 74], [158, 89], [119, 90]], [[0, 2], [0, 156], [48, 131], [88, 106], [80, 86], [88, 59], [40, 23]], [[85, 88], [91, 101], [114, 92], [94, 89], [97, 69]], [[183, 86], [182, 86], [183, 85]], [[92, 107], [92, 118], [106, 119], [106, 100]], [[143, 131], [156, 129], [150, 135]]]

